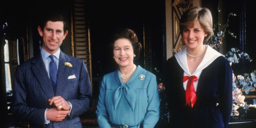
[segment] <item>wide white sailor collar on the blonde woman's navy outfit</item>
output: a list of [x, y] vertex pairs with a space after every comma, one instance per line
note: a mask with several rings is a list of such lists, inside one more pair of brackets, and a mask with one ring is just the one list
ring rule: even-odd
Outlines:
[[[213, 48], [211, 48], [209, 45], [206, 46], [206, 52], [205, 55], [201, 61], [201, 63], [198, 65], [197, 69], [195, 69], [195, 72], [193, 74], [197, 74], [198, 72], [202, 72], [204, 68], [206, 68], [208, 65], [210, 65], [217, 57], [223, 56]], [[181, 50], [177, 54], [174, 55], [176, 57], [176, 60], [178, 61], [180, 67], [186, 72], [187, 74], [190, 74], [189, 67], [187, 65], [187, 54], [186, 49]], [[191, 76], [193, 74], [190, 74]]]

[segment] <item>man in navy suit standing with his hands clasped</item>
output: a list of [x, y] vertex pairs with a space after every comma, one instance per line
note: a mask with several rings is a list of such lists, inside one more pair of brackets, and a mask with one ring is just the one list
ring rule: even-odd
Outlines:
[[[50, 13], [38, 26], [42, 37], [40, 56], [19, 65], [13, 85], [13, 114], [30, 128], [82, 128], [79, 115], [92, 104], [89, 74], [85, 63], [60, 50], [67, 35], [66, 21]], [[56, 91], [49, 76], [49, 55], [57, 65]]]

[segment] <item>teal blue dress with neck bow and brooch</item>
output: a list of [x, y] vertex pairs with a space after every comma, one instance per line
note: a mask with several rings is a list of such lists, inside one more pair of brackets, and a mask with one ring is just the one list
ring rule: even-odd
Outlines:
[[96, 111], [100, 128], [111, 128], [111, 124], [139, 128], [141, 123], [154, 128], [160, 111], [156, 76], [139, 65], [126, 83], [119, 74], [117, 69], [103, 77]]

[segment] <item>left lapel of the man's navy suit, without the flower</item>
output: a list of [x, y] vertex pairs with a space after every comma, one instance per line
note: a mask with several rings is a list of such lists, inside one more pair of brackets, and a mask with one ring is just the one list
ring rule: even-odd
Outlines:
[[45, 65], [43, 63], [43, 59], [41, 56], [35, 57], [31, 63], [34, 65], [31, 67], [35, 77], [39, 81], [39, 85], [42, 90], [46, 93], [47, 97], [50, 99], [54, 96], [54, 91], [52, 89], [52, 85], [50, 84], [50, 79], [48, 77], [48, 73], [46, 71]]

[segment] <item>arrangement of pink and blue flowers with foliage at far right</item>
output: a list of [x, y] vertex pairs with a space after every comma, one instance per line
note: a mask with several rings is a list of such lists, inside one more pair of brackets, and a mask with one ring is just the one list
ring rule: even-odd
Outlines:
[[[221, 12], [219, 8], [218, 12]], [[226, 24], [221, 25], [219, 23], [216, 23], [214, 25], [213, 31], [215, 34], [210, 38], [210, 41], [207, 43], [211, 48], [217, 50], [218, 52], [221, 45], [223, 44], [222, 40], [225, 37], [225, 33], [228, 33], [231, 37], [236, 38], [236, 35], [228, 30], [230, 16], [236, 16], [236, 14], [229, 13]], [[223, 27], [223, 29], [221, 29], [221, 27]], [[231, 50], [226, 53], [225, 57], [230, 62], [230, 65], [232, 65], [232, 63], [239, 63], [241, 59], [246, 59], [249, 62], [252, 61], [247, 53], [240, 52], [238, 48], [231, 48]], [[250, 90], [254, 90], [255, 87], [256, 71], [252, 72], [250, 75], [245, 73], [244, 76], [235, 76], [233, 73], [233, 104], [231, 121], [245, 119], [245, 115], [249, 107], [249, 105], [245, 102], [245, 95], [247, 95]]]

